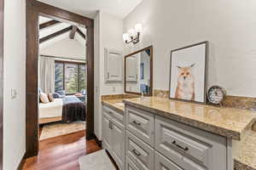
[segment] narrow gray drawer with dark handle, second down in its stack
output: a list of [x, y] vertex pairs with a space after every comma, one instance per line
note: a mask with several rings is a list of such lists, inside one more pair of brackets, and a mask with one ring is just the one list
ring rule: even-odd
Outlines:
[[126, 131], [126, 156], [133, 161], [140, 170], [154, 170], [154, 150], [141, 139]]

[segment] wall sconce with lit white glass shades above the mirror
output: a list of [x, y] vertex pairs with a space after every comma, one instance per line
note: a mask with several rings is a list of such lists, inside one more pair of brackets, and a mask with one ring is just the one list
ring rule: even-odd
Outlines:
[[137, 24], [134, 29], [129, 30], [125, 34], [123, 34], [123, 40], [125, 43], [133, 43], [137, 44], [140, 41], [140, 35], [143, 32], [143, 25]]

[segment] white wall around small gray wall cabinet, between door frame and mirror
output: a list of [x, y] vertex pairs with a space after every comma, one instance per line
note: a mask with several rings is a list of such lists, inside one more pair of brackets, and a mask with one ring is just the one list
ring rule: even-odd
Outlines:
[[104, 48], [123, 51], [123, 20], [99, 11], [95, 19], [95, 133], [102, 139], [101, 95], [123, 94], [123, 83], [104, 82]]

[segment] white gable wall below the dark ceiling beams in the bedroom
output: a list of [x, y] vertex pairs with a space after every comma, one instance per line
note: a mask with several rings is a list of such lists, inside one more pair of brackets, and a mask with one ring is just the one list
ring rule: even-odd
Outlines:
[[40, 45], [39, 54], [51, 55], [64, 58], [85, 59], [84, 45], [76, 39], [66, 37], [59, 42], [50, 43], [46, 47]]

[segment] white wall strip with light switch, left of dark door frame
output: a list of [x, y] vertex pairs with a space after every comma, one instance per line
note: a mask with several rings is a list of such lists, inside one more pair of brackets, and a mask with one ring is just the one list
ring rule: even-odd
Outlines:
[[[16, 169], [26, 150], [26, 4], [4, 3], [3, 169]], [[11, 88], [17, 98], [11, 99]]]

